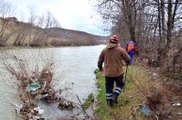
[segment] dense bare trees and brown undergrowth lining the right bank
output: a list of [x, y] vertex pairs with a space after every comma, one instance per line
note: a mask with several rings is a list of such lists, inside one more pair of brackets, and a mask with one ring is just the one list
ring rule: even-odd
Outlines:
[[109, 30], [121, 45], [137, 43], [141, 60], [161, 71], [181, 72], [181, 0], [96, 0]]

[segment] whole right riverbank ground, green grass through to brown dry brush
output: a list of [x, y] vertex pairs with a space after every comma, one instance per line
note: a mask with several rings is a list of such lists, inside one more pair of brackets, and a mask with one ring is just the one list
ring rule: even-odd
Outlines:
[[95, 112], [99, 120], [180, 120], [182, 117], [180, 96], [166, 89], [157, 70], [129, 66], [125, 91], [119, 96], [118, 104], [111, 108], [106, 104], [102, 73], [96, 73], [96, 77], [99, 94]]

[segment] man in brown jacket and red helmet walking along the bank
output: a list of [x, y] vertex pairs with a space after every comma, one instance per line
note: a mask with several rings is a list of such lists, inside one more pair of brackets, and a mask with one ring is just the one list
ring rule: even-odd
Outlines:
[[[126, 65], [129, 64], [130, 57], [127, 52], [118, 47], [118, 37], [112, 35], [109, 40], [109, 44], [102, 50], [99, 60], [98, 68], [102, 71], [102, 64], [104, 63], [104, 76], [105, 76], [105, 88], [106, 88], [106, 101], [109, 106], [113, 106], [113, 103], [117, 103], [118, 95], [123, 88], [123, 62]], [[115, 90], [114, 82], [116, 83]]]

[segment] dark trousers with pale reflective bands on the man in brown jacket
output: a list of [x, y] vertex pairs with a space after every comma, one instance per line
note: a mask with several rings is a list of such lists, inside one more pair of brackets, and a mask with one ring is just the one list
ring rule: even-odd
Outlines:
[[[119, 95], [123, 88], [123, 75], [118, 77], [107, 77], [105, 76], [105, 88], [106, 88], [106, 100], [110, 100], [113, 97], [113, 94]], [[114, 83], [116, 83], [116, 87], [114, 89]], [[114, 92], [113, 92], [114, 89]]]

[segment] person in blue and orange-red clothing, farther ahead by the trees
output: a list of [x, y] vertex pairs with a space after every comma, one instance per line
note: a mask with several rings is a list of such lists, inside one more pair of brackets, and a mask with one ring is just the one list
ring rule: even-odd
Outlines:
[[130, 41], [126, 44], [126, 51], [130, 56], [130, 64], [132, 64], [133, 56], [136, 51], [136, 43], [133, 41]]

